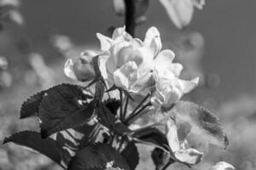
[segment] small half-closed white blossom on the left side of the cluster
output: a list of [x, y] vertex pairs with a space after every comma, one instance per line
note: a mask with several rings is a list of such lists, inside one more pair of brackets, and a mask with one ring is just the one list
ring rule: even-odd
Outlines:
[[67, 59], [64, 66], [64, 73], [67, 77], [73, 80], [79, 80], [82, 82], [91, 81], [96, 77], [92, 59], [96, 56], [94, 51], [86, 51], [79, 57], [78, 60], [73, 62], [72, 59]]

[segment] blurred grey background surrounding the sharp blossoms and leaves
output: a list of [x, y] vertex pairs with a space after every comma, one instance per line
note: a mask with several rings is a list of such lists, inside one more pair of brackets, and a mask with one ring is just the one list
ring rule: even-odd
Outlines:
[[[86, 49], [99, 49], [96, 32], [124, 26], [113, 12], [112, 0], [2, 0], [11, 14], [0, 18], [0, 142], [36, 120], [19, 120], [20, 105], [37, 91], [61, 82], [68, 58]], [[224, 154], [210, 153], [195, 169], [228, 161], [237, 169], [256, 169], [256, 1], [206, 1], [195, 10], [189, 26], [178, 30], [159, 1], [150, 0], [147, 20], [137, 26], [143, 39], [156, 26], [164, 48], [171, 48], [184, 65], [183, 78], [201, 77], [187, 99], [220, 116], [230, 138]], [[1, 12], [0, 12], [1, 14]], [[77, 83], [77, 82], [73, 82]], [[212, 151], [213, 152], [213, 151]], [[147, 154], [143, 155], [147, 160]], [[0, 146], [0, 169], [61, 169], [48, 158], [15, 144]], [[141, 168], [143, 169], [143, 167]]]

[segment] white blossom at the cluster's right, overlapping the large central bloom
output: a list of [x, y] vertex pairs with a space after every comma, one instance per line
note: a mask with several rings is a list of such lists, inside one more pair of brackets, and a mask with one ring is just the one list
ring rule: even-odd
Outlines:
[[169, 108], [177, 103], [183, 94], [189, 93], [194, 89], [199, 78], [191, 81], [179, 79], [183, 66], [172, 63], [174, 54], [171, 50], [163, 50], [157, 55], [154, 66], [155, 91], [151, 98], [151, 103], [155, 108]]

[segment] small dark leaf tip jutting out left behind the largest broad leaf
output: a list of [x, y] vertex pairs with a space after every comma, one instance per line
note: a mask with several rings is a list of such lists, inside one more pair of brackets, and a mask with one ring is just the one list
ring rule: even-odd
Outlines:
[[20, 119], [38, 116], [38, 107], [43, 99], [45, 91], [39, 92], [38, 94], [32, 95], [29, 99], [21, 105], [20, 109]]

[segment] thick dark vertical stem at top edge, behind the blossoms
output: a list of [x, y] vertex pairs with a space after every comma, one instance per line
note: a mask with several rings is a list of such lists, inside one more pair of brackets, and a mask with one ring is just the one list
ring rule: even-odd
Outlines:
[[134, 37], [136, 26], [136, 7], [134, 0], [125, 0], [125, 31]]

